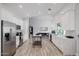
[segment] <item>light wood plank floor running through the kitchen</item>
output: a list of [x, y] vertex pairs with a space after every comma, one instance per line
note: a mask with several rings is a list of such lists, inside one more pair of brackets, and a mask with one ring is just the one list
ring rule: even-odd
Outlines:
[[14, 56], [62, 56], [63, 54], [48, 39], [42, 39], [42, 48], [33, 48], [31, 39], [19, 47]]

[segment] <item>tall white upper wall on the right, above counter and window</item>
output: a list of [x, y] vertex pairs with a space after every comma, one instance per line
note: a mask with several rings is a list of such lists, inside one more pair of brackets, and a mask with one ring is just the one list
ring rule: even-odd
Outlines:
[[75, 4], [68, 4], [54, 16], [56, 23], [60, 22], [65, 30], [74, 30]]

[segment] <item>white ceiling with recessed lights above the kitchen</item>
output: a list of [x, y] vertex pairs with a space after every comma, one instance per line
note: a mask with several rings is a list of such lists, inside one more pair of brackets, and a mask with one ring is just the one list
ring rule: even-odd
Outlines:
[[[51, 8], [50, 14], [54, 15], [67, 4], [64, 3], [3, 3], [3, 6], [14, 13], [17, 17], [25, 18], [27, 16], [48, 15], [48, 8]], [[22, 7], [22, 8], [20, 8]]]

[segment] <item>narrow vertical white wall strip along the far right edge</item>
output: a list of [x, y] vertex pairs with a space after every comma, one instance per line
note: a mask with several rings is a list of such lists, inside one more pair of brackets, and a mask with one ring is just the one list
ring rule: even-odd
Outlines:
[[76, 54], [79, 56], [79, 4], [76, 4], [76, 18], [75, 18], [75, 28], [76, 28], [76, 43], [77, 43], [77, 51]]

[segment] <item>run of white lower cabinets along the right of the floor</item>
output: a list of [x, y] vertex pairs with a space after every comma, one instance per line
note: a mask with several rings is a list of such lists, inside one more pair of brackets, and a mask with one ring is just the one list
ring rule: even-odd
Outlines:
[[52, 35], [52, 42], [63, 52], [63, 55], [76, 55], [75, 39]]

